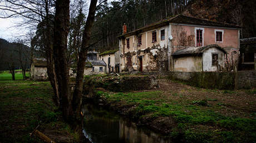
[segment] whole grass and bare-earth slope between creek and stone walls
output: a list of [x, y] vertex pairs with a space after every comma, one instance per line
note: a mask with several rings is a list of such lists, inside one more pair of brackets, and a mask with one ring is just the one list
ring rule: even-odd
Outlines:
[[130, 93], [97, 91], [97, 95], [104, 97], [110, 108], [174, 139], [255, 141], [255, 90], [207, 90], [179, 83], [160, 87]]

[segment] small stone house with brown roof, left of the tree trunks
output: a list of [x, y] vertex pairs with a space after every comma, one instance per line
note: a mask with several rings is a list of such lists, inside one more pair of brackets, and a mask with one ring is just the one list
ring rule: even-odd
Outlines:
[[31, 64], [31, 78], [34, 81], [47, 80], [47, 60], [43, 58], [34, 58]]

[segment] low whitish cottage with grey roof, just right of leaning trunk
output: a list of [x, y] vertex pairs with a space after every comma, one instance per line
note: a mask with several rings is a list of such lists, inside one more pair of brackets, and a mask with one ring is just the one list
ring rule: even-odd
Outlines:
[[90, 51], [87, 53], [84, 75], [106, 74], [106, 63], [99, 60], [99, 53]]

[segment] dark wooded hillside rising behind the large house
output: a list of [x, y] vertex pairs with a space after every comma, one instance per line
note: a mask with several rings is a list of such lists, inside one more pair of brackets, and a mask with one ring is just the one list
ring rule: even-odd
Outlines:
[[101, 52], [118, 47], [117, 36], [126, 23], [127, 32], [166, 17], [184, 13], [243, 27], [240, 38], [256, 36], [254, 0], [120, 0], [102, 4], [97, 9], [92, 30], [91, 49]]

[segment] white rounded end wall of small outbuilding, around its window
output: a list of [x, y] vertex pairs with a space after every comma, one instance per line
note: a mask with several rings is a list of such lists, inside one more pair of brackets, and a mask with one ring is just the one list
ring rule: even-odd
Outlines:
[[224, 66], [224, 53], [217, 49], [217, 48], [210, 48], [208, 50], [205, 50], [203, 53], [203, 70], [204, 71], [217, 71], [216, 66], [212, 66], [212, 54], [217, 53], [218, 54], [218, 62], [219, 65]]

